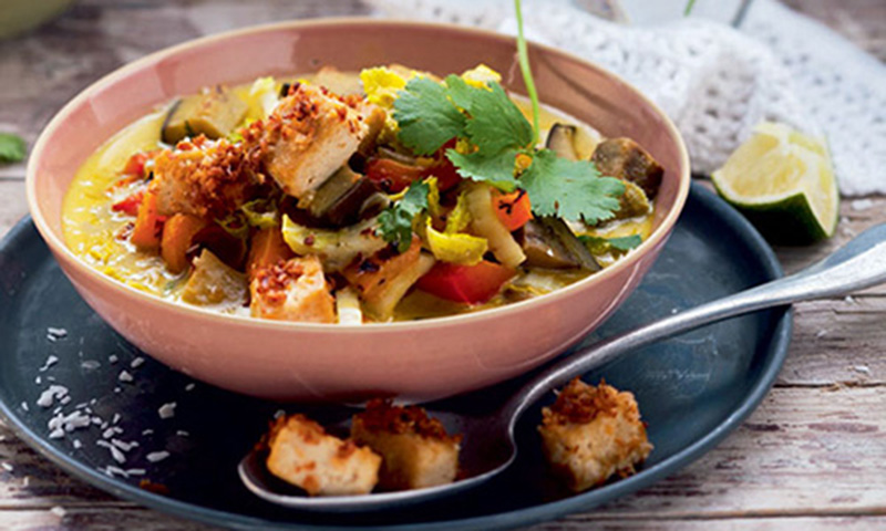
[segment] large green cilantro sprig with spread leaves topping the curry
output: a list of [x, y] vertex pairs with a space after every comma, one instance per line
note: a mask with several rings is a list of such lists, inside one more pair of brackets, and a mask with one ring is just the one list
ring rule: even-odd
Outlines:
[[[498, 83], [468, 85], [457, 75], [442, 83], [416, 77], [394, 101], [400, 142], [420, 155], [436, 153], [452, 138], [464, 140], [445, 156], [467, 179], [503, 191], [522, 188], [533, 211], [588, 223], [609, 219], [625, 185], [600, 177], [588, 160], [567, 160], [536, 148], [533, 126]], [[530, 162], [517, 167], [517, 158]]]

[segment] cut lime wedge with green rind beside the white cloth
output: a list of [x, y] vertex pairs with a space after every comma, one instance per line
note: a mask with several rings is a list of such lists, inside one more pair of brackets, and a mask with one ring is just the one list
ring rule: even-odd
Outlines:
[[827, 146], [787, 125], [754, 127], [711, 179], [772, 242], [811, 243], [836, 230], [839, 191]]

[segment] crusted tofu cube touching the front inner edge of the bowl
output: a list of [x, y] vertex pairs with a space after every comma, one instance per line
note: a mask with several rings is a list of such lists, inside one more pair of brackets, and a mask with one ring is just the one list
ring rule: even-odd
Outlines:
[[258, 269], [249, 283], [254, 317], [334, 323], [336, 300], [316, 256], [292, 258]]

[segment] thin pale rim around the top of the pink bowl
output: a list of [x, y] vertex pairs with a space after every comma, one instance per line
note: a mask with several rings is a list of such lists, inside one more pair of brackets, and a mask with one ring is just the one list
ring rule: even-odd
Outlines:
[[454, 315], [427, 317], [415, 321], [339, 324], [339, 323], [302, 323], [302, 322], [255, 319], [246, 315], [219, 313], [196, 305], [176, 303], [163, 299], [153, 293], [144, 292], [133, 287], [130, 287], [123, 283], [122, 281], [119, 281], [106, 274], [103, 274], [95, 268], [87, 264], [84, 260], [82, 260], [80, 257], [73, 253], [73, 251], [68, 247], [68, 244], [63, 241], [61, 237], [56, 236], [55, 232], [49, 228], [49, 222], [44, 218], [42, 210], [38, 208], [39, 204], [37, 200], [38, 197], [37, 162], [42, 158], [43, 153], [48, 146], [49, 142], [48, 138], [52, 136], [52, 133], [54, 133], [55, 129], [58, 129], [65, 123], [65, 121], [74, 112], [74, 110], [83, 105], [90, 97], [92, 97], [95, 93], [100, 92], [103, 87], [111, 85], [116, 81], [125, 77], [126, 75], [130, 75], [131, 73], [136, 72], [145, 66], [157, 63], [161, 60], [175, 56], [176, 54], [185, 50], [212, 44], [213, 42], [216, 41], [223, 41], [244, 35], [260, 34], [266, 32], [277, 32], [281, 30], [298, 30], [311, 27], [336, 27], [336, 25], [363, 27], [363, 28], [410, 27], [413, 29], [419, 28], [424, 30], [444, 30], [449, 32], [461, 32], [467, 35], [476, 35], [486, 39], [494, 39], [499, 42], [514, 41], [515, 39], [512, 35], [485, 29], [471, 28], [451, 23], [424, 22], [424, 21], [412, 21], [412, 20], [401, 20], [401, 19], [368, 19], [360, 17], [346, 17], [346, 18], [312, 19], [312, 20], [291, 20], [284, 22], [274, 22], [268, 24], [250, 25], [247, 28], [241, 28], [231, 31], [214, 33], [197, 39], [192, 39], [183, 43], [175, 44], [173, 46], [168, 46], [159, 51], [153, 52], [148, 55], [140, 58], [130, 63], [126, 63], [121, 67], [112, 71], [111, 73], [105, 74], [97, 81], [93, 82], [92, 84], [83, 88], [71, 101], [69, 101], [59, 112], [56, 112], [55, 115], [52, 117], [52, 119], [47, 124], [47, 126], [38, 136], [38, 139], [34, 143], [33, 149], [31, 150], [31, 155], [28, 159], [28, 168], [25, 175], [25, 191], [27, 191], [28, 208], [31, 212], [31, 217], [34, 220], [34, 225], [38, 228], [38, 231], [47, 241], [49, 248], [53, 251], [53, 254], [56, 257], [56, 259], [59, 261], [64, 262], [64, 264], [66, 264], [68, 267], [73, 268], [78, 273], [85, 275], [93, 282], [103, 284], [111, 291], [122, 292], [121, 293], [122, 295], [134, 298], [138, 300], [138, 302], [142, 304], [147, 304], [150, 306], [163, 309], [165, 311], [172, 311], [175, 314], [182, 314], [185, 316], [192, 316], [192, 317], [199, 316], [203, 319], [217, 321], [217, 324], [219, 325], [224, 324], [248, 325], [248, 326], [255, 326], [258, 330], [301, 331], [301, 332], [311, 332], [321, 334], [322, 333], [338, 334], [344, 331], [349, 333], [369, 334], [369, 333], [396, 331], [396, 330], [418, 331], [425, 329], [434, 329], [444, 325], [456, 325], [465, 320], [470, 320], [472, 322], [492, 320], [492, 319], [497, 319], [499, 316], [505, 316], [511, 313], [523, 312], [526, 311], [527, 309], [532, 309], [532, 306], [537, 306], [539, 304], [555, 304], [558, 300], [567, 298], [577, 291], [583, 291], [585, 289], [588, 289], [590, 285], [594, 285], [596, 283], [601, 283], [606, 281], [606, 279], [614, 277], [617, 273], [621, 272], [622, 270], [626, 270], [635, 266], [636, 262], [638, 262], [638, 260], [642, 256], [647, 254], [648, 252], [650, 252], [650, 250], [663, 243], [667, 237], [670, 235], [671, 229], [673, 228], [674, 223], [677, 222], [677, 219], [679, 218], [680, 214], [683, 210], [687, 197], [689, 195], [689, 187], [691, 183], [689, 154], [687, 152], [683, 138], [677, 126], [655, 102], [649, 100], [642, 92], [640, 92], [633, 85], [625, 81], [618, 74], [615, 74], [610, 70], [605, 69], [593, 61], [583, 59], [576, 54], [559, 50], [554, 46], [539, 44], [536, 42], [528, 43], [530, 52], [533, 49], [535, 49], [546, 54], [559, 55], [562, 59], [566, 59], [568, 61], [576, 62], [585, 66], [589, 66], [614, 79], [616, 82], [621, 83], [624, 87], [631, 91], [637, 97], [639, 97], [646, 105], [649, 106], [649, 108], [651, 108], [656, 114], [659, 115], [664, 128], [668, 132], [670, 132], [671, 136], [677, 140], [679, 163], [680, 167], [682, 168], [678, 175], [678, 189], [677, 189], [677, 195], [674, 197], [673, 206], [671, 207], [670, 211], [667, 212], [659, 227], [652, 231], [652, 233], [648, 239], [641, 242], [640, 246], [638, 246], [636, 249], [632, 249], [628, 254], [619, 259], [616, 263], [605, 268], [602, 271], [588, 275], [569, 285], [559, 288], [550, 293], [546, 293], [545, 295], [527, 299], [525, 301], [508, 303], [497, 308], [484, 309], [476, 312], [466, 312]]

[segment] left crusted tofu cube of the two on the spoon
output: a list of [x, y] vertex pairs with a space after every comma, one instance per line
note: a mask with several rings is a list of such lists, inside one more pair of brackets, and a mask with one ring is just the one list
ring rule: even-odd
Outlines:
[[379, 480], [381, 457], [303, 415], [278, 418], [268, 447], [268, 470], [310, 496], [368, 494]]

